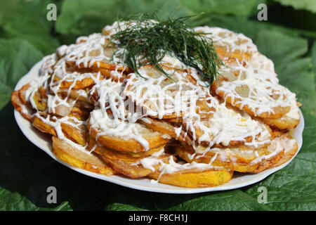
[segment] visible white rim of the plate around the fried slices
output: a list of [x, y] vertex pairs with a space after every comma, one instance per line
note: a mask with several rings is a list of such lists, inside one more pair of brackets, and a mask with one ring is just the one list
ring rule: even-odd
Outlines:
[[[29, 82], [29, 80], [27, 78], [35, 76], [34, 74], [39, 73], [39, 68], [41, 63], [43, 62], [43, 60], [40, 60], [38, 63], [36, 63], [31, 70], [29, 70], [29, 72], [27, 72], [26, 75], [24, 75], [23, 77], [21, 77], [18, 81], [18, 83], [15, 86], [14, 90], [18, 90], [20, 89], [20, 87], [22, 87], [22, 85], [26, 84], [27, 82]], [[32, 79], [32, 78], [29, 78]], [[244, 186], [249, 186], [251, 184], [256, 184], [259, 181], [262, 181], [263, 179], [265, 179], [267, 176], [269, 176], [270, 174], [273, 174], [275, 172], [277, 172], [279, 169], [282, 169], [284, 167], [286, 167], [287, 165], [289, 165], [289, 163], [294, 160], [294, 158], [296, 157], [296, 155], [298, 154], [298, 152], [301, 150], [302, 144], [303, 144], [303, 130], [304, 130], [304, 125], [305, 125], [305, 121], [304, 121], [304, 117], [303, 117], [303, 113], [301, 112], [301, 109], [299, 109], [299, 113], [301, 116], [301, 120], [300, 123], [298, 124], [298, 126], [296, 127], [296, 129], [294, 129], [294, 133], [298, 133], [296, 134], [296, 142], [298, 143], [298, 150], [296, 151], [296, 154], [291, 158], [291, 160], [285, 162], [282, 165], [279, 165], [278, 167], [273, 167], [270, 169], [265, 169], [262, 172], [258, 173], [258, 174], [242, 174], [241, 176], [254, 176], [254, 179], [248, 179], [248, 181], [244, 181], [244, 183], [241, 184], [235, 184], [232, 186], [227, 186], [227, 184], [229, 184], [230, 181], [228, 181], [228, 183], [225, 183], [223, 185], [220, 186], [215, 186], [215, 187], [205, 187], [205, 188], [184, 188], [184, 187], [178, 187], [178, 186], [171, 186], [169, 184], [161, 184], [161, 183], [157, 183], [157, 184], [152, 184], [150, 179], [130, 179], [130, 178], [126, 178], [123, 176], [118, 176], [118, 175], [112, 175], [112, 176], [105, 176], [103, 174], [97, 174], [95, 172], [90, 172], [84, 169], [79, 169], [77, 167], [73, 167], [72, 165], [68, 165], [67, 163], [63, 162], [62, 160], [59, 160], [52, 152], [51, 150], [51, 142], [48, 144], [46, 143], [46, 148], [45, 146], [42, 146], [41, 144], [37, 143], [36, 138], [34, 138], [34, 135], [37, 136], [38, 139], [44, 139], [44, 135], [41, 136], [40, 132], [37, 131], [34, 127], [32, 127], [32, 124], [30, 124], [24, 117], [22, 117], [22, 115], [20, 115], [20, 113], [17, 110], [14, 110], [14, 117], [15, 117], [15, 121], [18, 124], [19, 129], [22, 131], [22, 134], [25, 135], [25, 137], [32, 142], [35, 146], [37, 146], [38, 148], [40, 148], [41, 150], [44, 150], [44, 152], [46, 154], [48, 154], [49, 156], [51, 156], [51, 158], [53, 158], [55, 161], [59, 162], [60, 164], [73, 169], [76, 172], [79, 172], [81, 174], [84, 174], [86, 176], [91, 176], [94, 177], [96, 179], [101, 179], [104, 181], [108, 181], [112, 184], [117, 184], [120, 186], [125, 186], [127, 188], [133, 188], [133, 189], [137, 189], [140, 191], [150, 191], [150, 192], [155, 192], [155, 193], [175, 193], [175, 194], [189, 194], [189, 193], [204, 193], [204, 192], [213, 192], [213, 191], [227, 191], [227, 190], [232, 190], [232, 189], [236, 189], [236, 188], [242, 188]], [[25, 126], [25, 124], [28, 123], [29, 126]], [[298, 127], [300, 128], [298, 130]], [[50, 146], [50, 148], [49, 148]], [[232, 178], [234, 179], [234, 177]], [[146, 182], [150, 182], [151, 185], [156, 185], [157, 187], [148, 187], [145, 186], [144, 184], [138, 184], [138, 181], [146, 181]], [[246, 179], [247, 180], [247, 179]]]

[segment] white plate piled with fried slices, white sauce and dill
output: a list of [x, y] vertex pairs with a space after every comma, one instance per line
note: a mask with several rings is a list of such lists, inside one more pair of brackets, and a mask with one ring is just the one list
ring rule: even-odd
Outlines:
[[11, 96], [29, 141], [77, 172], [160, 193], [261, 181], [293, 160], [304, 120], [243, 34], [139, 17], [44, 57]]

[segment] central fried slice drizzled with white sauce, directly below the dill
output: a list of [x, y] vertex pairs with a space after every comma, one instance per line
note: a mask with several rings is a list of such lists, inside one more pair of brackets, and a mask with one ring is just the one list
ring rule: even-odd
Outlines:
[[[131, 73], [128, 76], [124, 95], [129, 96], [146, 115], [159, 119], [183, 117], [190, 111], [213, 111], [206, 104], [209, 93], [199, 86], [185, 70], [162, 66], [170, 75], [167, 78], [153, 65], [145, 65], [138, 70], [139, 75]], [[200, 109], [201, 108], [201, 109]]]

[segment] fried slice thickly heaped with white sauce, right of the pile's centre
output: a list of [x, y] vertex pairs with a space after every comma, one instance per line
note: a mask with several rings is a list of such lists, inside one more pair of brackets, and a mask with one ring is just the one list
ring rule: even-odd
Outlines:
[[265, 146], [272, 138], [270, 127], [225, 102], [217, 105], [211, 118], [184, 120], [183, 129], [198, 143], [214, 147], [234, 147], [252, 141]]

